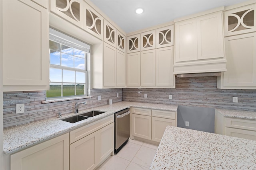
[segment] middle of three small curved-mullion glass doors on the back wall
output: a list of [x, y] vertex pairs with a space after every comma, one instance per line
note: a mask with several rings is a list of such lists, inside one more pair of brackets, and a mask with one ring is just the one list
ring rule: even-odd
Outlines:
[[156, 48], [156, 31], [148, 31], [140, 34], [140, 51]]

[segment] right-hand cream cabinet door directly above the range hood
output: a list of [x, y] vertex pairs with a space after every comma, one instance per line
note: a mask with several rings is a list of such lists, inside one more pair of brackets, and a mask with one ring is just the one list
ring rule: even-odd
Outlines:
[[224, 57], [222, 12], [197, 19], [198, 59]]

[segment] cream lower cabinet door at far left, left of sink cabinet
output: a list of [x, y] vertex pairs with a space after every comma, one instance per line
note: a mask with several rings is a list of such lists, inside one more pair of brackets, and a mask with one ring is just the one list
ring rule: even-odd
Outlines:
[[11, 170], [69, 170], [69, 133], [10, 156]]

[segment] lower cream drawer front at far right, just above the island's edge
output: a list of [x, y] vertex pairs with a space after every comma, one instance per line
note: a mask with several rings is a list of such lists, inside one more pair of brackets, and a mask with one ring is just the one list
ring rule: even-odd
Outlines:
[[225, 127], [225, 135], [256, 141], [256, 131]]

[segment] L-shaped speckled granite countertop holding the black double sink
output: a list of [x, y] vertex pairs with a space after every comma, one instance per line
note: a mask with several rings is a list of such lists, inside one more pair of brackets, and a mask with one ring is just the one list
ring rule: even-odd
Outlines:
[[[79, 121], [77, 123], [69, 123], [60, 120], [60, 118], [51, 118], [43, 121], [37, 121], [26, 125], [20, 125], [17, 127], [11, 127], [4, 129], [4, 154], [16, 151], [18, 149], [31, 146], [40, 141], [49, 139], [56, 135], [67, 133], [70, 130], [76, 129], [83, 125], [92, 123], [108, 115], [112, 115], [117, 111], [125, 109], [126, 107], [144, 107], [151, 109], [162, 109], [177, 111], [178, 106], [163, 105], [163, 104], [147, 104], [138, 102], [118, 102], [112, 105], [105, 105], [93, 108], [98, 111], [106, 111], [100, 115]], [[91, 111], [92, 109], [86, 110]], [[82, 112], [82, 113], [84, 113]], [[81, 113], [80, 113], [81, 114]], [[61, 119], [66, 117], [72, 117], [74, 113], [63, 115]]]

